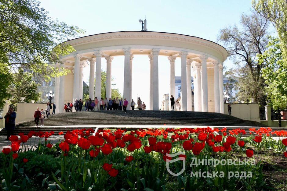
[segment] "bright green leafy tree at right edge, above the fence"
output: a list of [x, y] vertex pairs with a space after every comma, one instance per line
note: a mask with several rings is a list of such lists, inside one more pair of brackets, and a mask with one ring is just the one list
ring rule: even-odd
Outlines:
[[265, 80], [267, 98], [275, 109], [287, 105], [287, 65], [282, 59], [282, 50], [278, 38], [269, 37], [267, 51], [259, 55], [259, 62], [264, 66], [262, 76]]

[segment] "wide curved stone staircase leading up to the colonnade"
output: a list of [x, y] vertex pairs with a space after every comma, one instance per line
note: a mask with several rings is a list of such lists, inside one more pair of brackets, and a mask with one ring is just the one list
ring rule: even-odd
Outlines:
[[[103, 125], [166, 125], [166, 126], [237, 126], [228, 129], [236, 129], [243, 126], [263, 127], [259, 122], [242, 120], [230, 115], [212, 113], [212, 112], [194, 112], [194, 111], [83, 111], [67, 112], [52, 115], [45, 118], [44, 127], [35, 127], [34, 121], [16, 124], [15, 133], [29, 133], [29, 131], [60, 131], [66, 132], [72, 129], [82, 129], [83, 127], [71, 126], [103, 126]], [[61, 126], [61, 127], [53, 127]], [[248, 130], [249, 128], [246, 128]], [[286, 128], [285, 128], [286, 129]], [[2, 129], [0, 136], [5, 135], [6, 131]]]

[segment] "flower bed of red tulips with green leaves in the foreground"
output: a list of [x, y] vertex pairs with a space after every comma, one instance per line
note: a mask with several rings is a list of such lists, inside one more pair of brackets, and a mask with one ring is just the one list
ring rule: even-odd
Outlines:
[[[260, 156], [272, 151], [285, 161], [287, 131], [249, 130], [243, 138], [243, 129], [226, 128], [78, 129], [54, 145], [53, 132], [20, 133], [9, 138], [11, 146], [0, 155], [2, 188], [270, 190]], [[33, 136], [40, 140], [27, 149]]]

